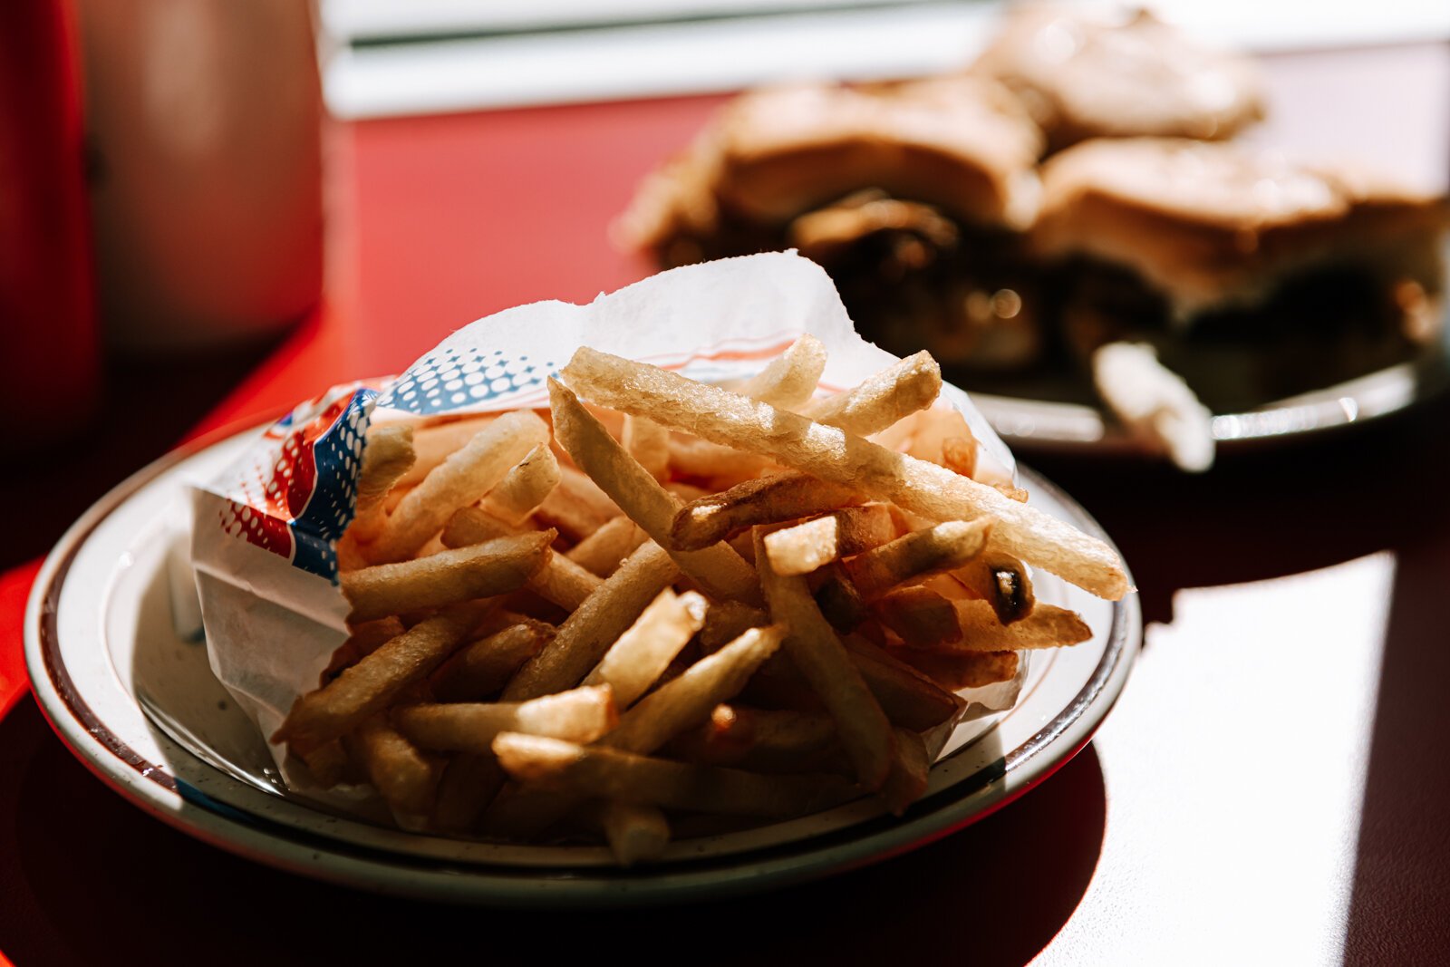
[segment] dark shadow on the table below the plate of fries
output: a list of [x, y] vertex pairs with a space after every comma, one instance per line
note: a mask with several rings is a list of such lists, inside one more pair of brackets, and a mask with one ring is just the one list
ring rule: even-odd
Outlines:
[[1082, 900], [1102, 848], [1089, 745], [1019, 802], [918, 851], [826, 881], [697, 906], [490, 912], [397, 900], [239, 860], [102, 790], [33, 702], [0, 722], [0, 950], [116, 963], [157, 948], [218, 963], [416, 961], [473, 951], [648, 963], [1024, 964]]

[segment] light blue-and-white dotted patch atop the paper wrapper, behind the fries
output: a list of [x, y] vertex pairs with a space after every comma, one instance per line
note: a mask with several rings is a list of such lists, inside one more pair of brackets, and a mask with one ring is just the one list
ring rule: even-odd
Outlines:
[[444, 349], [415, 362], [377, 404], [420, 416], [451, 413], [539, 386], [552, 371], [552, 362], [506, 360], [502, 349]]

